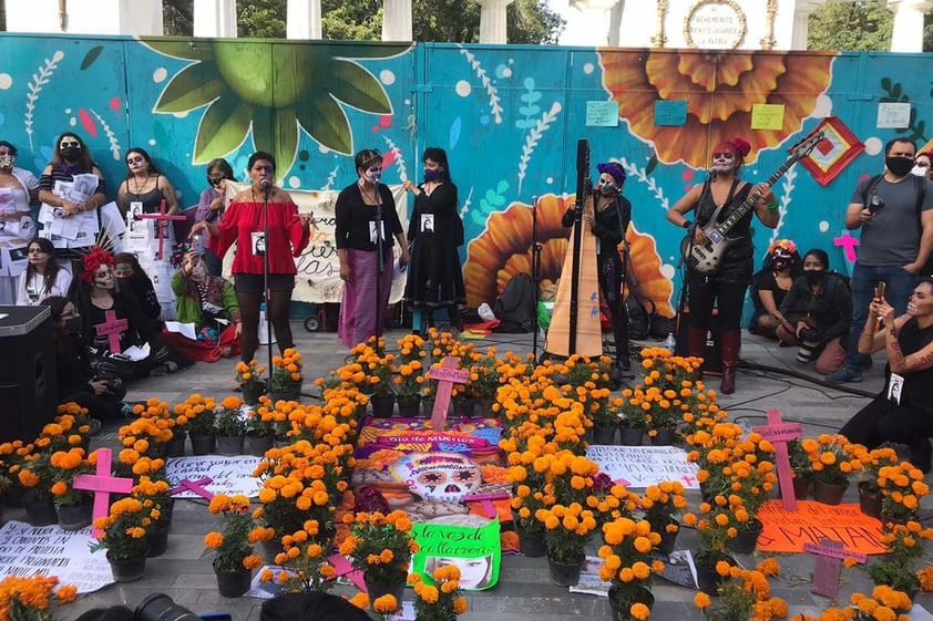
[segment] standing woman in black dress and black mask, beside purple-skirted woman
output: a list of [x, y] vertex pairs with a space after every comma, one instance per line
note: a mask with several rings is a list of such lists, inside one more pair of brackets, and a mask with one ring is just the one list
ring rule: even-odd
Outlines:
[[[457, 211], [457, 186], [450, 177], [444, 149], [428, 147], [421, 157], [424, 183], [404, 182], [404, 189], [414, 194], [414, 206], [408, 225], [411, 246], [411, 269], [404, 287], [404, 299], [424, 312], [423, 321], [433, 325], [433, 310], [447, 309], [451, 328], [460, 329], [460, 306], [466, 303], [463, 269], [458, 248], [463, 246], [463, 222]], [[416, 330], [420, 325], [414, 327]]]

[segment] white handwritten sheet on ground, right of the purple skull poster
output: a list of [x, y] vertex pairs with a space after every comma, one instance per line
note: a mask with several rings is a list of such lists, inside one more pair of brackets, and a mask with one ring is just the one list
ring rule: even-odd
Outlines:
[[586, 456], [609, 478], [626, 487], [648, 487], [663, 480], [679, 480], [687, 489], [699, 489], [697, 465], [676, 446], [589, 445]]

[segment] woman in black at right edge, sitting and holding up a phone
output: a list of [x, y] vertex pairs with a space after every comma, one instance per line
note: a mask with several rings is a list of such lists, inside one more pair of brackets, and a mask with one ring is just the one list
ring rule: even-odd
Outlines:
[[[933, 279], [921, 277], [908, 312], [894, 317], [883, 297], [869, 304], [869, 321], [859, 335], [859, 352], [884, 350], [884, 387], [839, 431], [869, 449], [884, 443], [905, 444], [910, 462], [930, 472], [933, 446]], [[875, 319], [883, 328], [875, 331]]]

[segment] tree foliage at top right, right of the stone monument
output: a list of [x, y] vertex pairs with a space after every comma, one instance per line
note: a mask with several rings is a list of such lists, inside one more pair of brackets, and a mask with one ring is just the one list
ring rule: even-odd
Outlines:
[[[923, 50], [933, 50], [931, 15], [924, 20]], [[873, 51], [891, 49], [894, 13], [885, 0], [862, 2], [827, 2], [810, 15], [808, 50], [834, 52]]]

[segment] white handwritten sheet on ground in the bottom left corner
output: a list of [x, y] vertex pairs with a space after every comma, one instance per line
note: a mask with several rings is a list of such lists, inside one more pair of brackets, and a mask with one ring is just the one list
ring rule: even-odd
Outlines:
[[106, 552], [91, 552], [91, 528], [62, 530], [8, 521], [0, 528], [0, 579], [7, 576], [58, 576], [90, 593], [113, 582]]

